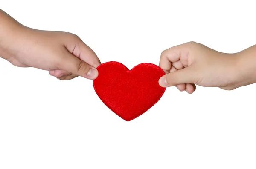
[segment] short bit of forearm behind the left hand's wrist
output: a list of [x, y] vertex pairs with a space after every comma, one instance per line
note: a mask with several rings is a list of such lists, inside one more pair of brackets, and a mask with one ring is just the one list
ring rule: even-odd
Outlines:
[[0, 57], [9, 58], [9, 50], [15, 45], [15, 39], [23, 29], [23, 25], [18, 23], [11, 16], [0, 9]]

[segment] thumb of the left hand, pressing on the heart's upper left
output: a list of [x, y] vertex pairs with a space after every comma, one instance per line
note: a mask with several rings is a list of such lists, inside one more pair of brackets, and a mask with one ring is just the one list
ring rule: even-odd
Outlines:
[[83, 60], [67, 52], [66, 56], [58, 64], [58, 69], [66, 70], [87, 79], [96, 79], [98, 71]]

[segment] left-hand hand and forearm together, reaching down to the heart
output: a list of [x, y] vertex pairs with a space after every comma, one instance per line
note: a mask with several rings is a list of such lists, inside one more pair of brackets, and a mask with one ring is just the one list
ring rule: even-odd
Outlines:
[[60, 80], [95, 79], [100, 60], [78, 36], [21, 25], [0, 10], [0, 57], [15, 66], [48, 70]]

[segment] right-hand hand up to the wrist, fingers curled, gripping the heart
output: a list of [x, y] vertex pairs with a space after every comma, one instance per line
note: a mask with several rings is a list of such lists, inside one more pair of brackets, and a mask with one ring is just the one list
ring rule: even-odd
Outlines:
[[160, 86], [176, 86], [190, 94], [195, 84], [225, 90], [241, 86], [239, 54], [221, 53], [200, 43], [184, 43], [163, 51], [160, 67], [166, 72], [159, 80]]

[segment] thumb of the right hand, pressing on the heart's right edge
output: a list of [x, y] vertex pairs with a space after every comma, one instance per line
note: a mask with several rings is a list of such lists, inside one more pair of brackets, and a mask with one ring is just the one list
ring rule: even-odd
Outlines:
[[162, 87], [176, 86], [178, 84], [196, 83], [195, 70], [191, 66], [180, 69], [169, 74], [164, 75], [159, 79], [159, 85]]

